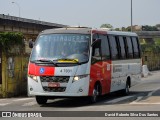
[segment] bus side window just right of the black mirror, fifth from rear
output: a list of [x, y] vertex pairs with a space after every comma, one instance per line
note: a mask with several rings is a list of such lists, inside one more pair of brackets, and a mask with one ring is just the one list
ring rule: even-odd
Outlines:
[[101, 51], [102, 51], [102, 60], [110, 59], [110, 48], [108, 43], [108, 38], [106, 35], [99, 35], [101, 39]]

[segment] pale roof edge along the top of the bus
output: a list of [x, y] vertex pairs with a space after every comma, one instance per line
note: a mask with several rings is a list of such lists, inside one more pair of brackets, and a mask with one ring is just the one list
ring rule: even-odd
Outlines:
[[41, 34], [54, 34], [54, 33], [80, 33], [80, 34], [91, 34], [92, 33], [102, 33], [110, 35], [124, 35], [124, 36], [137, 36], [134, 32], [124, 32], [124, 31], [109, 31], [103, 28], [92, 29], [89, 27], [66, 27], [57, 29], [47, 29], [41, 32]]

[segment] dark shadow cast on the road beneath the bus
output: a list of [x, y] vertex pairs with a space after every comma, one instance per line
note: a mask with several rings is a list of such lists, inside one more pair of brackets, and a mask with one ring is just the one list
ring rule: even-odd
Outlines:
[[[148, 93], [151, 91], [134, 91], [130, 92], [129, 96], [131, 96], [130, 99], [125, 99], [122, 101], [119, 101], [117, 103], [113, 104], [126, 104], [128, 102], [132, 102], [136, 100], [139, 96], [147, 96]], [[83, 106], [97, 106], [97, 105], [106, 105], [108, 101], [118, 99], [121, 97], [125, 97], [122, 95], [120, 92], [114, 92], [110, 93], [107, 95], [103, 95], [99, 97], [97, 103], [90, 103], [88, 97], [80, 97], [80, 98], [65, 98], [65, 99], [55, 99], [55, 100], [50, 100], [47, 104], [41, 105], [41, 107], [58, 107], [58, 108], [74, 108], [74, 107], [83, 107]], [[108, 105], [113, 105], [113, 104], [108, 104]]]

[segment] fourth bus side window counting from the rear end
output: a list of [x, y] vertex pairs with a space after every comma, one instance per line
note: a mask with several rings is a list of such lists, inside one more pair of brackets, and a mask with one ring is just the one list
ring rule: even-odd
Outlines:
[[112, 60], [118, 59], [118, 45], [116, 42], [115, 36], [109, 35], [109, 43], [110, 43], [110, 48], [111, 48], [111, 58]]

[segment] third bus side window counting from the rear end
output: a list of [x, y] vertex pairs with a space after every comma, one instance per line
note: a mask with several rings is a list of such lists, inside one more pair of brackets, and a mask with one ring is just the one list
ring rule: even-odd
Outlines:
[[122, 36], [119, 36], [120, 58], [126, 59], [125, 43]]

